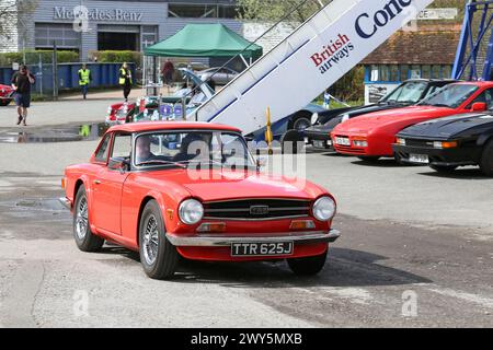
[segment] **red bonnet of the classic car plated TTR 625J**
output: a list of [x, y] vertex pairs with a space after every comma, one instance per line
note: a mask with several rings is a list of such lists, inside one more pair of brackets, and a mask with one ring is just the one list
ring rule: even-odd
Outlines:
[[[167, 170], [146, 173], [148, 185], [154, 189], [169, 191], [170, 184], [181, 187], [190, 196], [203, 201], [236, 198], [300, 198], [313, 199], [326, 194], [321, 187], [301, 179], [259, 174], [255, 171], [233, 172], [215, 168], [213, 171]], [[174, 189], [175, 190], [175, 189]], [[183, 192], [183, 191], [180, 191]]]

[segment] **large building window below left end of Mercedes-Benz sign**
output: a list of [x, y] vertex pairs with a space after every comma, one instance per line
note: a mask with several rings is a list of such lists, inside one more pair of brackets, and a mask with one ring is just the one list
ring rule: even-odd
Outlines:
[[72, 24], [36, 23], [35, 46], [53, 48], [54, 43], [58, 48], [79, 49], [80, 33], [73, 31]]

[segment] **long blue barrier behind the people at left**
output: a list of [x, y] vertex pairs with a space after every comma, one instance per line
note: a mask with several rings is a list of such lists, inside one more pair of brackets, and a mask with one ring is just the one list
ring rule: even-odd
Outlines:
[[[91, 70], [92, 82], [90, 88], [118, 86], [118, 73], [122, 63], [87, 63]], [[59, 63], [58, 67], [58, 90], [79, 89], [79, 69], [82, 63]], [[136, 77], [136, 65], [128, 63], [128, 67]], [[54, 71], [53, 65], [28, 65], [30, 71], [36, 77], [33, 91], [38, 94], [53, 92]], [[0, 84], [10, 85], [14, 70], [12, 67], [0, 67]]]

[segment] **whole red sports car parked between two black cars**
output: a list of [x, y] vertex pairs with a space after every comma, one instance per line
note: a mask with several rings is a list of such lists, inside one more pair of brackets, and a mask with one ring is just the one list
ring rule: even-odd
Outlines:
[[365, 161], [394, 156], [395, 135], [419, 122], [493, 107], [493, 82], [445, 86], [416, 106], [371, 113], [340, 124], [331, 133], [335, 150]]

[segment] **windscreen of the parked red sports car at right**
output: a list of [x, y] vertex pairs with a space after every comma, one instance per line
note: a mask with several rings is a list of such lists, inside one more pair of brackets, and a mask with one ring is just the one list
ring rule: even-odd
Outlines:
[[432, 96], [424, 100], [420, 105], [457, 108], [478, 91], [472, 84], [450, 84]]

